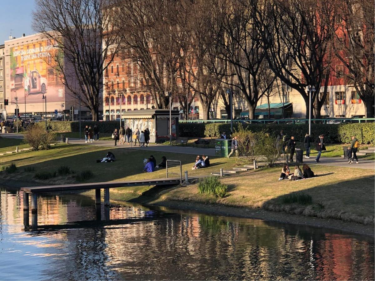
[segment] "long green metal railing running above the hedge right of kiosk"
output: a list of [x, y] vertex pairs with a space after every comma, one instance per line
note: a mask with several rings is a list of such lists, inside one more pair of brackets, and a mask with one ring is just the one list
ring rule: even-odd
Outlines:
[[[366, 123], [374, 122], [375, 118], [324, 118], [324, 119], [311, 119], [311, 122], [314, 123], [323, 123], [323, 124], [338, 124], [338, 123]], [[178, 120], [179, 123], [230, 123], [231, 120]], [[308, 123], [309, 119], [236, 119], [233, 120], [233, 123], [249, 123], [249, 124], [303, 124]]]

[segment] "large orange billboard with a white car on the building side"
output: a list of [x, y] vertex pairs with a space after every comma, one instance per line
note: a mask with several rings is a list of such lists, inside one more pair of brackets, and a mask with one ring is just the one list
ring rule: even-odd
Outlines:
[[64, 85], [54, 69], [59, 52], [49, 40], [10, 48], [10, 99], [18, 103], [63, 102]]

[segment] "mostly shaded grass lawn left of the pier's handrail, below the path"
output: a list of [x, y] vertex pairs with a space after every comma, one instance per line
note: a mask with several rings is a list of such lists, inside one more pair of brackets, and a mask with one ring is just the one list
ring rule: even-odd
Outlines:
[[[13, 139], [14, 140], [14, 139]], [[108, 151], [114, 153], [116, 161], [113, 163], [96, 163], [97, 159], [102, 159]], [[5, 172], [0, 172], [0, 179], [12, 179], [22, 182], [34, 181], [40, 185], [49, 184], [71, 184], [75, 183], [75, 175], [83, 170], [91, 170], [94, 176], [87, 182], [104, 182], [104, 181], [120, 181], [131, 179], [150, 179], [150, 178], [165, 178], [166, 170], [157, 169], [153, 173], [143, 173], [143, 159], [154, 155], [157, 163], [161, 161], [161, 157], [165, 156], [167, 159], [180, 160], [183, 164], [182, 172], [189, 171], [189, 176], [194, 175], [210, 175], [211, 172], [219, 172], [220, 168], [231, 169], [236, 166], [235, 159], [216, 158], [211, 157], [211, 166], [205, 169], [191, 170], [196, 155], [190, 154], [176, 154], [167, 152], [144, 151], [136, 149], [124, 148], [106, 148], [100, 146], [74, 145], [58, 143], [52, 149], [44, 151], [26, 151], [18, 154], [3, 155], [0, 157], [0, 165], [9, 165], [14, 163], [18, 167], [18, 172], [7, 175]], [[37, 172], [49, 171], [54, 172], [58, 167], [66, 165], [75, 172], [68, 176], [56, 176], [48, 180], [36, 180], [34, 175]], [[34, 171], [25, 172], [24, 168], [33, 167]], [[176, 170], [177, 168], [173, 168]], [[179, 172], [179, 171], [178, 171]], [[173, 177], [174, 175], [172, 175]], [[184, 177], [184, 175], [183, 175]], [[32, 183], [31, 183], [32, 184]], [[148, 187], [126, 187], [117, 188], [116, 192], [126, 190], [129, 192], [139, 193], [147, 190]]]

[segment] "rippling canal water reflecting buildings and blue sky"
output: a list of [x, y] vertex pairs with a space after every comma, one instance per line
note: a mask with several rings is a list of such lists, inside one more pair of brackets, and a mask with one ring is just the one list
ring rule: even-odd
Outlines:
[[[1, 188], [0, 280], [374, 280], [374, 240], [312, 227]], [[98, 214], [99, 215], [99, 214]], [[31, 214], [30, 214], [31, 220]]]

